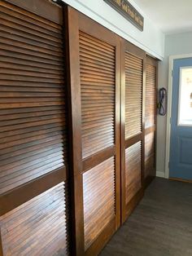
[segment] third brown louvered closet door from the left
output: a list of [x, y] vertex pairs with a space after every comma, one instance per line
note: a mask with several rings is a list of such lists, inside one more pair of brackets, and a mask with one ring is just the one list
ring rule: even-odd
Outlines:
[[121, 216], [143, 196], [145, 52], [122, 40], [121, 47]]

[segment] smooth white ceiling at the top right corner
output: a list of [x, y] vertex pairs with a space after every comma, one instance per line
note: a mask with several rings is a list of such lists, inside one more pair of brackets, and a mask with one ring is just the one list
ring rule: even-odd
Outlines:
[[192, 0], [134, 0], [164, 33], [192, 31]]

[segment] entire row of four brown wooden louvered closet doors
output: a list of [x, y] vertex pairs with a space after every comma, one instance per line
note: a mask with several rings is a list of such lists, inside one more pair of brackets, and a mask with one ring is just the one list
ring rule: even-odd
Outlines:
[[0, 255], [97, 255], [155, 175], [157, 62], [72, 7], [0, 12]]

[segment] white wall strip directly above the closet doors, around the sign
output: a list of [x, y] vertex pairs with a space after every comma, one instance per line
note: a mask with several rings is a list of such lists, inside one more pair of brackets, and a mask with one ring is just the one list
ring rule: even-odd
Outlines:
[[159, 60], [164, 57], [164, 33], [146, 17], [133, 0], [129, 2], [136, 7], [137, 11], [144, 16], [144, 31], [133, 26], [124, 19], [117, 11], [112, 9], [103, 0], [63, 0], [68, 5], [76, 8], [91, 19], [103, 24], [107, 29], [119, 34], [134, 45], [139, 46], [150, 55], [154, 55]]

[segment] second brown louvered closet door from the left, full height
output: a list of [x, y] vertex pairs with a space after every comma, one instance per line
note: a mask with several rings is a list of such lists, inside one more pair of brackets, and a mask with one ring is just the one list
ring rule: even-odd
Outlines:
[[68, 27], [76, 253], [97, 255], [120, 225], [120, 39], [71, 7]]

